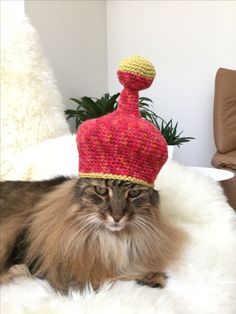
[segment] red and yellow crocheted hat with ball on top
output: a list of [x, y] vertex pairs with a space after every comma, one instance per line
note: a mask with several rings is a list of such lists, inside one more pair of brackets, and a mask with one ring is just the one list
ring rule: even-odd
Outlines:
[[138, 91], [155, 77], [153, 65], [135, 56], [119, 65], [124, 89], [117, 110], [83, 122], [77, 133], [79, 176], [131, 181], [153, 187], [167, 160], [167, 144], [160, 131], [139, 112]]

